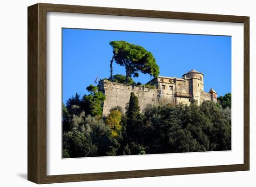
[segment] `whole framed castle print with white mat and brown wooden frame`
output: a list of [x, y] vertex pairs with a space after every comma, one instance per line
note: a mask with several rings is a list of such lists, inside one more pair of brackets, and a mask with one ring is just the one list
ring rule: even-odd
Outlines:
[[249, 17], [28, 7], [28, 180], [249, 170]]

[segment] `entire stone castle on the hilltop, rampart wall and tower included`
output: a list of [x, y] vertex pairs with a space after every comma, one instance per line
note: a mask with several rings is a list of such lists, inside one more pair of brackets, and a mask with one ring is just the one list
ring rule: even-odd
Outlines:
[[[128, 85], [108, 80], [99, 82], [99, 90], [106, 96], [103, 104], [103, 115], [116, 106], [124, 111], [129, 103], [131, 92], [138, 97], [141, 111], [148, 104], [162, 105], [179, 103], [190, 104], [191, 102], [200, 105], [203, 101], [217, 101], [217, 93], [212, 88], [209, 92], [204, 91], [204, 75], [196, 70], [185, 73], [182, 78], [158, 76], [145, 85]], [[151, 88], [152, 85], [155, 89]]]

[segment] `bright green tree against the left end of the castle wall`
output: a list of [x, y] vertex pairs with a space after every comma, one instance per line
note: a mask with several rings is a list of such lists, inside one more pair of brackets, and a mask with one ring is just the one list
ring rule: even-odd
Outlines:
[[82, 109], [86, 114], [92, 116], [101, 116], [103, 110], [103, 102], [106, 97], [101, 91], [98, 91], [98, 87], [94, 85], [89, 85], [87, 88], [89, 95], [84, 95], [81, 101]]

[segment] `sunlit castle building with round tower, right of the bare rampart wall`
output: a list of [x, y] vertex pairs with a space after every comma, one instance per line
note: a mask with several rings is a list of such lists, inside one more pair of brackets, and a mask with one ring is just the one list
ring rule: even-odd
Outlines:
[[160, 100], [172, 101], [173, 104], [189, 104], [191, 102], [200, 105], [203, 101], [217, 102], [217, 93], [212, 88], [204, 91], [204, 75], [196, 70], [185, 73], [182, 78], [158, 76], [147, 84], [154, 85], [158, 89]]

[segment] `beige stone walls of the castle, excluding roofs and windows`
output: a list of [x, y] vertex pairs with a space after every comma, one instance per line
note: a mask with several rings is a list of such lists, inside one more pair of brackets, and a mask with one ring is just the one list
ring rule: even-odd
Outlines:
[[[107, 116], [110, 110], [116, 106], [120, 106], [123, 111], [126, 111], [128, 106], [131, 92], [134, 92], [135, 96], [138, 97], [139, 106], [141, 112], [149, 105], [164, 105], [179, 103], [190, 104], [194, 100], [198, 105], [203, 101], [211, 101], [210, 93], [206, 93], [201, 90], [200, 81], [191, 80], [176, 80], [176, 84], [166, 84], [166, 82], [159, 82], [157, 88], [150, 89], [145, 86], [120, 84], [110, 82], [108, 80], [101, 80], [99, 83], [99, 91], [103, 92], [106, 96], [106, 100], [103, 104], [103, 116]], [[165, 90], [162, 90], [162, 85], [166, 85]], [[172, 89], [169, 88], [172, 87]], [[190, 88], [191, 87], [191, 88]], [[193, 87], [193, 88], [192, 88]], [[189, 90], [193, 89], [193, 95], [190, 94]]]

